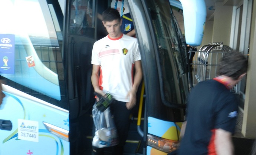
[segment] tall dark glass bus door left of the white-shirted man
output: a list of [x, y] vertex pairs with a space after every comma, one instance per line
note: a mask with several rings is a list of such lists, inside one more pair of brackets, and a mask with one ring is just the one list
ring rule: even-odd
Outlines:
[[[92, 47], [107, 35], [99, 15], [108, 1], [67, 0], [63, 31], [63, 59], [69, 98], [70, 154], [91, 150], [92, 105], [95, 102], [91, 83]], [[98, 11], [98, 12], [97, 12]]]

